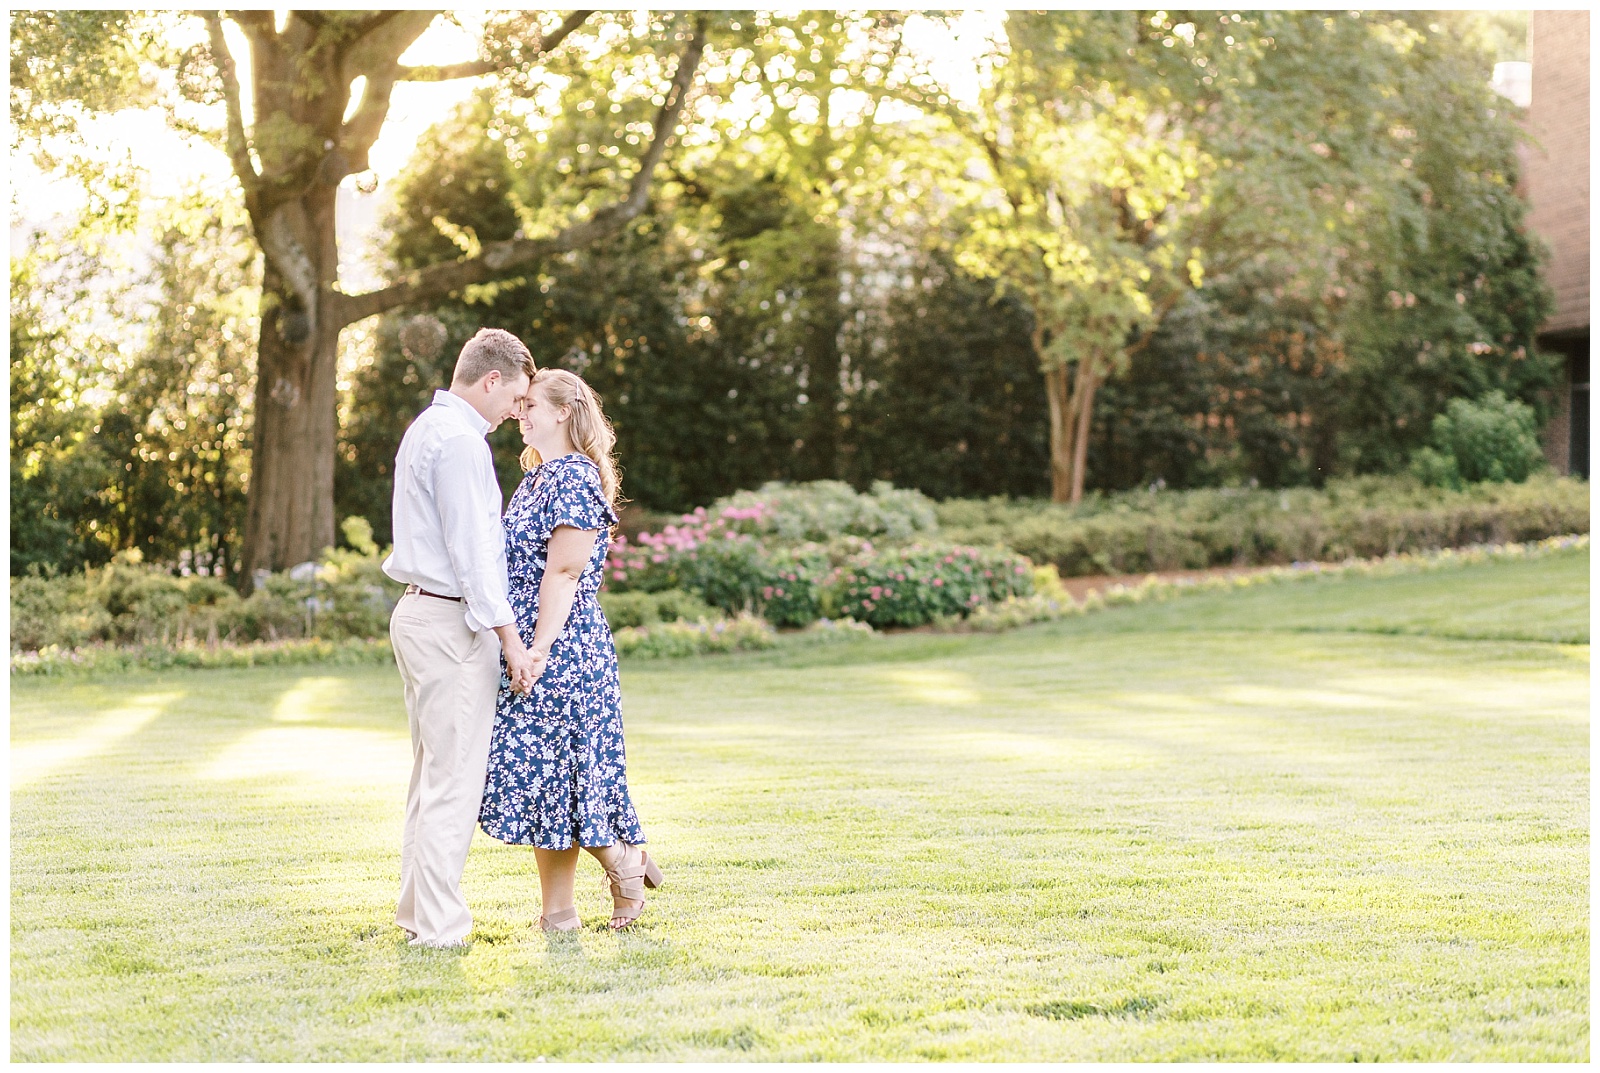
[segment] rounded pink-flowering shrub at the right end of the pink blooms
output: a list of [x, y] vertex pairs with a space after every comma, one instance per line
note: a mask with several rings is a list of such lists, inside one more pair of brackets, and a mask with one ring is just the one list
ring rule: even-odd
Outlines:
[[1011, 552], [955, 545], [912, 545], [840, 566], [842, 616], [885, 625], [925, 625], [941, 616], [1034, 592], [1032, 564]]

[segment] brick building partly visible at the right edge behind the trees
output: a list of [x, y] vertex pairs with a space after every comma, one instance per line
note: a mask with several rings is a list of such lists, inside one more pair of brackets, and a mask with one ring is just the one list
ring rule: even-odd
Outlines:
[[1565, 358], [1550, 400], [1546, 456], [1560, 472], [1589, 473], [1589, 13], [1534, 11], [1533, 102], [1522, 189], [1528, 224], [1550, 248], [1546, 280], [1555, 312], [1539, 345]]

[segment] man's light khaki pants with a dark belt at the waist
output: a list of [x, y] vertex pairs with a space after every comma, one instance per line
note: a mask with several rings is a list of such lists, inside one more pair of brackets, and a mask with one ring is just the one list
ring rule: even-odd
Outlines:
[[488, 774], [499, 638], [469, 630], [466, 614], [464, 603], [406, 593], [389, 619], [413, 755], [395, 923], [421, 942], [472, 931], [461, 870]]

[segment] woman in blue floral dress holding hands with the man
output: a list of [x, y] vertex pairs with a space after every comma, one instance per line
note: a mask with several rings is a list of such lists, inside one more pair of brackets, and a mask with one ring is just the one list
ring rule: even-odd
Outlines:
[[594, 389], [565, 369], [534, 374], [520, 424], [530, 472], [506, 509], [506, 560], [536, 684], [520, 694], [501, 681], [478, 824], [533, 846], [544, 931], [581, 926], [579, 846], [605, 868], [621, 929], [662, 876], [627, 795], [616, 649], [595, 596], [616, 525], [616, 433]]

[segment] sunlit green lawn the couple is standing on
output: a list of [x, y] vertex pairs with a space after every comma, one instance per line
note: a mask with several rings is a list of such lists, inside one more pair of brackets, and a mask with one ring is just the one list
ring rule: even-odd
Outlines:
[[[1587, 1060], [1587, 553], [624, 670], [669, 883], [392, 926], [389, 668], [11, 686], [11, 1057]], [[1525, 638], [1525, 640], [1518, 640]]]

